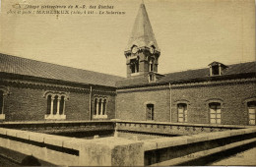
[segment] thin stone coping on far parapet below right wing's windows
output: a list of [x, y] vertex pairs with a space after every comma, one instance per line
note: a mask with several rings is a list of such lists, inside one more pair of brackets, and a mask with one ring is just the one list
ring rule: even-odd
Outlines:
[[217, 125], [217, 124], [190, 124], [190, 123], [170, 123], [170, 122], [156, 122], [156, 121], [128, 121], [128, 120], [111, 120], [115, 123], [129, 123], [129, 124], [154, 124], [154, 125], [168, 125], [168, 126], [190, 126], [190, 127], [207, 127], [207, 128], [252, 128], [254, 126], [240, 126], [240, 125]]

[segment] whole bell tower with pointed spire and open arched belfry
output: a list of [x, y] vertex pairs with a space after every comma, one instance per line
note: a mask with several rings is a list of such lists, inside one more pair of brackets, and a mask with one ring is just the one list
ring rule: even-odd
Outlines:
[[127, 78], [147, 77], [158, 73], [160, 48], [144, 3], [140, 5], [124, 55]]

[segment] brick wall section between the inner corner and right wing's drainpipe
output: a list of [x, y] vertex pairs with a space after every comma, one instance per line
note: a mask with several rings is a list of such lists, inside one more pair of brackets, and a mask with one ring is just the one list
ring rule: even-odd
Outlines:
[[117, 92], [117, 118], [131, 121], [146, 120], [146, 104], [155, 104], [155, 121], [169, 121], [169, 90]]

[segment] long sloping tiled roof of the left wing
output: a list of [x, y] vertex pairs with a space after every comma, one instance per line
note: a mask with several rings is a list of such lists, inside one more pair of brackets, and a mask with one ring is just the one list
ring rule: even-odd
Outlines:
[[115, 86], [123, 78], [0, 53], [0, 73], [73, 83]]

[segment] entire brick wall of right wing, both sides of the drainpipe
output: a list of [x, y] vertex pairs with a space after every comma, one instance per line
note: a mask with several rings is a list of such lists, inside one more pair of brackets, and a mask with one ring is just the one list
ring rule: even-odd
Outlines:
[[[117, 118], [145, 121], [147, 101], [156, 102], [156, 121], [169, 122], [169, 89], [119, 89], [116, 97]], [[129, 92], [125, 92], [124, 90]], [[248, 125], [246, 100], [256, 97], [256, 83], [223, 83], [172, 87], [171, 121], [177, 122], [177, 103], [187, 103], [188, 123], [209, 124], [209, 102], [222, 103], [222, 124]]]

